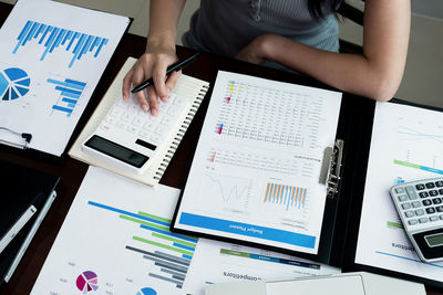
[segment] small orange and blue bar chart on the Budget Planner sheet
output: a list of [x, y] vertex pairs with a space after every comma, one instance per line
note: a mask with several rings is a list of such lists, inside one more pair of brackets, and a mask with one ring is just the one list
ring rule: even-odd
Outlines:
[[306, 188], [270, 183], [266, 186], [264, 203], [276, 203], [289, 208], [305, 208]]

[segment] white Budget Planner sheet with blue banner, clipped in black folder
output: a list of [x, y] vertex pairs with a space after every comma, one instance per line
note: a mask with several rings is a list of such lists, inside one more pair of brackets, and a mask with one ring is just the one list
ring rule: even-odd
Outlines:
[[317, 253], [341, 93], [218, 72], [175, 226]]

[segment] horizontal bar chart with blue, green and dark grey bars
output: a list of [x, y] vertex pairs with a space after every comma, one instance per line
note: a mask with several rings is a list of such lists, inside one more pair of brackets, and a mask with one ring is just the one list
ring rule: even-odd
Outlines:
[[193, 259], [197, 239], [169, 231], [171, 220], [146, 212], [137, 213], [89, 201], [90, 206], [112, 211], [120, 220], [141, 229], [125, 245], [125, 250], [140, 255], [150, 265], [150, 277], [182, 288]]

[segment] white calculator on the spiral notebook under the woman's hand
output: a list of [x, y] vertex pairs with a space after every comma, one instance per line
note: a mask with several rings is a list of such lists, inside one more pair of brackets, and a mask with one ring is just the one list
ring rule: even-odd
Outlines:
[[142, 175], [162, 144], [177, 124], [188, 99], [171, 93], [158, 102], [156, 116], [144, 112], [134, 95], [128, 102], [120, 97], [95, 131], [82, 144], [82, 150], [128, 172]]

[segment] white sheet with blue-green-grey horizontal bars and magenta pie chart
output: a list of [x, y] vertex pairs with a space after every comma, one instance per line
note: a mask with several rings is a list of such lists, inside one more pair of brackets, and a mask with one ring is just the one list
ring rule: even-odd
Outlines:
[[183, 294], [196, 239], [167, 230], [178, 193], [90, 167], [32, 294]]

